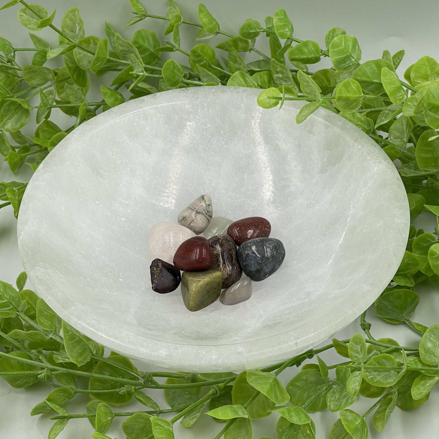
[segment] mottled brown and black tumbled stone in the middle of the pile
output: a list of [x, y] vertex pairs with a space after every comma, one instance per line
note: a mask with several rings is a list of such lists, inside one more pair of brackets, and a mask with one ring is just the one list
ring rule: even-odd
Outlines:
[[223, 273], [223, 288], [233, 285], [241, 277], [235, 241], [228, 235], [216, 235], [209, 239], [212, 249], [212, 269]]

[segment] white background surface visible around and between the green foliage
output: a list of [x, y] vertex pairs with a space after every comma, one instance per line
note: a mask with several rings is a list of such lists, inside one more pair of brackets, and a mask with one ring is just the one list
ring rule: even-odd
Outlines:
[[[4, 0], [5, 1], [5, 0]], [[144, 2], [151, 14], [165, 14], [165, 1]], [[406, 57], [399, 68], [400, 75], [404, 69], [423, 55], [430, 55], [439, 59], [439, 46], [437, 45], [437, 16], [439, 3], [420, 0], [416, 3], [403, 1], [369, 0], [364, 1], [308, 1], [291, 2], [287, 0], [277, 0], [267, 2], [263, 0], [205, 0], [205, 5], [219, 21], [221, 28], [227, 32], [237, 34], [237, 29], [246, 18], [254, 18], [263, 22], [263, 18], [279, 7], [284, 7], [294, 26], [295, 36], [298, 38], [317, 40], [323, 46], [324, 35], [327, 29], [340, 26], [346, 29], [348, 34], [355, 35], [363, 51], [363, 61], [367, 59], [380, 58], [382, 50], [388, 49], [393, 54], [397, 50], [405, 49]], [[191, 0], [181, 0], [184, 19], [197, 21], [197, 2]], [[103, 22], [107, 19], [115, 29], [122, 32], [122, 36], [129, 37], [140, 26], [154, 29], [158, 34], [164, 29], [163, 23], [156, 23], [153, 20], [141, 22], [133, 28], [123, 29], [126, 22], [132, 17], [128, 0], [45, 0], [43, 2], [49, 13], [57, 7], [57, 17], [54, 24], [59, 25], [62, 14], [71, 6], [78, 6], [85, 22], [86, 34], [98, 35], [103, 37]], [[10, 40], [14, 47], [32, 47], [27, 30], [24, 29], [16, 19], [18, 7], [12, 7], [6, 11], [0, 11], [0, 35]], [[183, 28], [182, 42], [186, 49], [190, 48], [187, 42], [189, 37], [194, 35], [194, 30]], [[49, 40], [53, 45], [56, 37], [50, 30], [43, 30], [40, 36]], [[217, 37], [218, 41], [222, 40]], [[68, 122], [67, 122], [68, 123]], [[26, 132], [32, 135], [31, 132]], [[6, 165], [0, 167], [0, 181], [18, 180], [25, 181], [30, 177], [30, 172], [23, 169], [15, 176], [12, 176]], [[422, 219], [417, 221], [417, 227], [422, 223], [431, 222], [431, 216], [425, 214]], [[428, 231], [430, 231], [429, 229]], [[17, 241], [15, 237], [15, 219], [11, 209], [2, 209], [0, 217], [0, 279], [14, 283], [18, 273], [22, 271], [22, 263], [18, 254]], [[373, 276], [373, 273], [371, 273]], [[28, 288], [31, 288], [28, 285]], [[439, 288], [428, 285], [420, 286], [417, 292], [421, 296], [421, 302], [414, 313], [414, 321], [419, 321], [427, 326], [438, 323], [439, 314]], [[419, 340], [409, 328], [402, 325], [385, 324], [373, 317], [373, 309], [369, 311], [368, 320], [373, 324], [372, 334], [375, 338], [392, 337], [397, 339], [400, 344], [413, 345]], [[349, 338], [360, 330], [358, 321], [341, 331], [337, 338]], [[323, 356], [327, 363], [338, 363], [342, 361], [336, 355]], [[140, 367], [140, 364], [137, 364]], [[148, 366], [142, 365], [144, 370]], [[281, 379], [286, 384], [293, 376], [294, 371], [285, 371], [281, 374]], [[31, 418], [29, 412], [38, 402], [42, 401], [50, 389], [47, 387], [34, 385], [28, 389], [15, 390], [9, 387], [3, 380], [0, 380], [0, 437], [1, 438], [29, 438], [43, 439], [47, 437], [50, 425], [53, 421], [49, 416]], [[164, 399], [161, 391], [151, 392], [150, 395], [164, 406]], [[81, 399], [82, 398], [82, 399]], [[76, 396], [74, 401], [67, 405], [71, 413], [83, 412], [86, 397]], [[363, 413], [374, 403], [374, 400], [360, 398], [353, 406], [353, 409]], [[403, 412], [395, 409], [390, 417], [388, 424], [381, 434], [375, 432], [370, 425], [370, 437], [374, 438], [417, 438], [417, 439], [436, 439], [439, 431], [439, 418], [437, 417], [437, 406], [439, 404], [439, 390], [434, 388], [430, 400], [410, 412]], [[139, 407], [133, 403], [133, 407]], [[131, 409], [124, 406], [125, 410]], [[121, 411], [122, 411], [121, 410]], [[143, 410], [138, 408], [138, 410]], [[314, 414], [316, 422], [317, 438], [326, 438], [332, 423], [337, 418], [336, 414], [328, 411]], [[111, 430], [107, 433], [112, 437], [122, 438], [124, 435], [120, 430], [121, 418], [117, 419]], [[277, 417], [274, 415], [269, 418], [255, 420], [254, 437], [259, 438], [263, 435], [275, 437], [274, 426]], [[371, 420], [369, 420], [371, 421]], [[175, 435], [177, 439], [188, 438], [210, 438], [213, 437], [222, 425], [210, 421], [208, 416], [202, 419], [191, 429], [180, 428], [177, 424]], [[90, 424], [86, 420], [72, 420], [59, 436], [61, 439], [78, 439], [90, 437], [93, 432]]]

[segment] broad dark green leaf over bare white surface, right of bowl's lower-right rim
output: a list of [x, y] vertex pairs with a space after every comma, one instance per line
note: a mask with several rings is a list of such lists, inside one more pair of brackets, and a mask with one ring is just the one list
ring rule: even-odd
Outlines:
[[418, 303], [419, 296], [412, 290], [388, 291], [375, 301], [375, 313], [390, 323], [403, 323], [410, 321]]

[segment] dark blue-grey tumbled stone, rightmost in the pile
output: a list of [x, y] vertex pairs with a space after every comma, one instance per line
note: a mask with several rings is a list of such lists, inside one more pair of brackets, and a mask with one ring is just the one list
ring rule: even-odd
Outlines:
[[276, 272], [285, 259], [285, 248], [276, 238], [254, 238], [238, 247], [242, 271], [252, 281], [263, 281]]

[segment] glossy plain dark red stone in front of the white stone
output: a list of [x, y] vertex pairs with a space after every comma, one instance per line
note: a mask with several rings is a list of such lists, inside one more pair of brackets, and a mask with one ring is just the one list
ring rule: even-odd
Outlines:
[[212, 266], [209, 241], [202, 236], [194, 236], [184, 241], [175, 252], [174, 265], [183, 271], [209, 270]]

